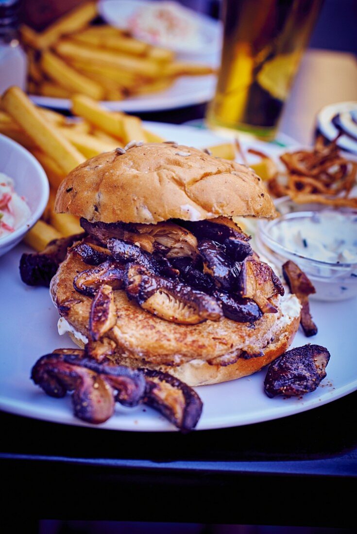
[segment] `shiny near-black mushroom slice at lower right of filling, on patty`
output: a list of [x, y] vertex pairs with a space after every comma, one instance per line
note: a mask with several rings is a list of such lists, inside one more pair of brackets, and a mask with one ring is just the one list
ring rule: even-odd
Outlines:
[[234, 293], [215, 291], [214, 296], [221, 303], [224, 317], [237, 323], [254, 323], [263, 315], [252, 299], [243, 299]]

